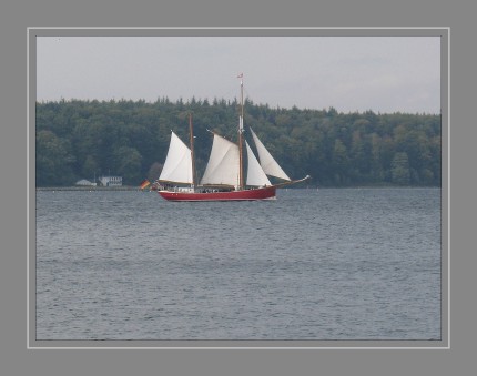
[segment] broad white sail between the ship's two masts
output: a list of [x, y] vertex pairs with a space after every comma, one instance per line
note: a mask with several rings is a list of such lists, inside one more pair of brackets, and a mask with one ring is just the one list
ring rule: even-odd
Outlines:
[[201, 185], [232, 185], [240, 182], [238, 146], [214, 134], [211, 156], [201, 180]]

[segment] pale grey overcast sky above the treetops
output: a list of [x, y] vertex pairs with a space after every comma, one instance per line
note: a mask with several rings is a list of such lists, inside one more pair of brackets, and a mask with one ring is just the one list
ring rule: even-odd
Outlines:
[[439, 37], [38, 37], [37, 100], [440, 112]]

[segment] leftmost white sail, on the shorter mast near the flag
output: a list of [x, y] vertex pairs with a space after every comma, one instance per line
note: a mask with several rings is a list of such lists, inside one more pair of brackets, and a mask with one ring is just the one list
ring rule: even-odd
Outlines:
[[192, 184], [191, 150], [172, 132], [168, 156], [162, 167], [160, 181]]

